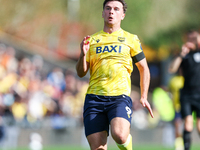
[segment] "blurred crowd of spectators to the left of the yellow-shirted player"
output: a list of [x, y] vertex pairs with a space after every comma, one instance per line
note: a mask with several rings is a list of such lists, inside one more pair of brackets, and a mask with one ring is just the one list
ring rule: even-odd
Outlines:
[[48, 71], [40, 55], [15, 53], [0, 44], [0, 142], [16, 145], [20, 128], [41, 128], [46, 120], [52, 129], [81, 125], [87, 80], [59, 66]]

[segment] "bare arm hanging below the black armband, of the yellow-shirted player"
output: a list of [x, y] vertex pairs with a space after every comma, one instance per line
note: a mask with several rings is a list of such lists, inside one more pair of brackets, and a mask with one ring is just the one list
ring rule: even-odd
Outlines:
[[153, 118], [154, 117], [153, 112], [147, 100], [149, 84], [150, 84], [150, 72], [146, 58], [143, 58], [142, 60], [136, 62], [135, 65], [137, 66], [140, 73], [140, 89], [141, 89], [140, 103], [142, 104], [143, 107], [146, 107], [148, 109], [151, 117]]

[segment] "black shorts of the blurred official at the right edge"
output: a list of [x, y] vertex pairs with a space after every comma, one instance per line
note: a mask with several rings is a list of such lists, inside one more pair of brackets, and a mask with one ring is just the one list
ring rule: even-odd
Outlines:
[[184, 119], [188, 115], [196, 113], [197, 118], [200, 118], [200, 93], [181, 92], [181, 116]]

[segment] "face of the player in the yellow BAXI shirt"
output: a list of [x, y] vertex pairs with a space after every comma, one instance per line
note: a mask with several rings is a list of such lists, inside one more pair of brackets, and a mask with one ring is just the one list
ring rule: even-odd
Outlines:
[[123, 5], [119, 1], [109, 1], [106, 3], [102, 17], [107, 25], [120, 25], [121, 20], [124, 19], [125, 14]]

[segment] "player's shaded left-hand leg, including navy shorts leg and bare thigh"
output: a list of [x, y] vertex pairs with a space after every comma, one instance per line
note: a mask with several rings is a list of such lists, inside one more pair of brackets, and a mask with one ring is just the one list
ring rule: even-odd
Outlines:
[[85, 135], [91, 150], [107, 150], [107, 136], [109, 133], [109, 120], [104, 107], [95, 95], [86, 95], [84, 104]]

